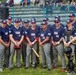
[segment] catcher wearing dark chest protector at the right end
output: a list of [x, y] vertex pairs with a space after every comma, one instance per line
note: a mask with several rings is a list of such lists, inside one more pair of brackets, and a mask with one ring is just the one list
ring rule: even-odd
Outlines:
[[70, 41], [72, 40], [71, 37], [76, 36], [76, 30], [75, 30], [74, 26], [72, 26], [72, 20], [71, 19], [67, 20], [67, 27], [65, 28], [64, 36], [65, 36], [64, 45], [66, 47], [70, 46], [72, 48], [71, 56], [73, 57], [75, 45], [73, 43], [70, 43]]

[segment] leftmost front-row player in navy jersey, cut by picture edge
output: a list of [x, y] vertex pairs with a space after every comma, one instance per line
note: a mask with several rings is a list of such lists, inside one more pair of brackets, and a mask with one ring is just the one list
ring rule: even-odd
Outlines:
[[3, 71], [3, 67], [2, 67], [2, 58], [5, 55], [5, 59], [7, 60], [7, 62], [5, 63], [5, 65], [7, 65], [8, 67], [8, 53], [7, 51], [9, 50], [9, 45], [10, 45], [10, 41], [9, 41], [9, 30], [6, 28], [6, 24], [7, 21], [6, 20], [2, 20], [2, 25], [0, 27], [0, 71]]

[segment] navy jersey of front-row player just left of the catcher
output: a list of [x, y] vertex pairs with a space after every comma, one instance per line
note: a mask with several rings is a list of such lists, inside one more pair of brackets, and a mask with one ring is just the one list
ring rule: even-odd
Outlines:
[[52, 37], [53, 41], [57, 42], [59, 41], [62, 37], [64, 37], [64, 28], [60, 26], [60, 28], [56, 28], [56, 26], [53, 26], [53, 31], [52, 31]]

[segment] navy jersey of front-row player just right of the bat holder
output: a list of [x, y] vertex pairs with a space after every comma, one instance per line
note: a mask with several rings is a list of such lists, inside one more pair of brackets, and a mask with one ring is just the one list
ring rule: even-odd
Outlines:
[[51, 31], [49, 29], [46, 29], [46, 30], [41, 29], [39, 36], [40, 36], [41, 42], [44, 41], [46, 37], [49, 37], [49, 40], [46, 43], [50, 43]]

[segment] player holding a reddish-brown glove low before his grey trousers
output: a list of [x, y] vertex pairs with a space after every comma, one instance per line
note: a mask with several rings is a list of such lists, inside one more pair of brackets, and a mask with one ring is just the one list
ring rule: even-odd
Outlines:
[[21, 55], [21, 43], [24, 38], [24, 32], [19, 26], [19, 19], [15, 19], [14, 21], [14, 27], [10, 29], [10, 58], [9, 58], [9, 69], [13, 69], [13, 57], [14, 52], [16, 50], [16, 65], [19, 68], [20, 67], [20, 55]]

